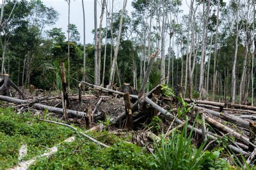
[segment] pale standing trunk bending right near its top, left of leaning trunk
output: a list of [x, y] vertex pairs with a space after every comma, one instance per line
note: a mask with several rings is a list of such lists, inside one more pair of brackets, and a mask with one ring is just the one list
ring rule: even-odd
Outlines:
[[102, 2], [102, 13], [100, 15], [100, 22], [99, 22], [99, 40], [98, 40], [98, 75], [97, 75], [97, 82], [100, 84], [100, 65], [101, 65], [101, 56], [102, 56], [102, 22], [104, 16], [106, 0]]

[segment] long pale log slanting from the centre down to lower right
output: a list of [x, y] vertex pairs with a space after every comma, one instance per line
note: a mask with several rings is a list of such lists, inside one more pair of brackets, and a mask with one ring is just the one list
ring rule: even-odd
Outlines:
[[[147, 102], [147, 103], [150, 104], [153, 108], [155, 108], [155, 109], [157, 109], [159, 112], [161, 112], [161, 114], [163, 114], [166, 119], [169, 119], [170, 121], [173, 120], [174, 117], [170, 114], [170, 112], [168, 112], [168, 111], [165, 110], [164, 108], [162, 108], [162, 107], [160, 107], [159, 105], [157, 105], [156, 103], [154, 103], [152, 100], [150, 100], [149, 97], [145, 97], [145, 102]], [[179, 118], [176, 118], [176, 119], [174, 120], [174, 122], [177, 123], [177, 124], [182, 124], [182, 123], [184, 123], [184, 122], [181, 121]], [[192, 131], [194, 131], [194, 132], [196, 132], [196, 133], [198, 133], [198, 134], [200, 134], [200, 135], [203, 134], [200, 129], [196, 129], [196, 128], [194, 128], [194, 127], [191, 126], [191, 125], [187, 125], [187, 128], [190, 129], [190, 130], [192, 130]], [[210, 138], [210, 139], [212, 139], [212, 140], [215, 140], [215, 139], [219, 138], [219, 136], [218, 136], [217, 134], [216, 134], [215, 136], [213, 136], [212, 134], [209, 134], [208, 132], [207, 132], [207, 137]], [[230, 148], [230, 149], [231, 149], [233, 152], [235, 152], [235, 153], [248, 154], [247, 152], [245, 152], [245, 151], [241, 150], [240, 148], [235, 147], [235, 146], [233, 146], [233, 145], [227, 145], [227, 147]]]

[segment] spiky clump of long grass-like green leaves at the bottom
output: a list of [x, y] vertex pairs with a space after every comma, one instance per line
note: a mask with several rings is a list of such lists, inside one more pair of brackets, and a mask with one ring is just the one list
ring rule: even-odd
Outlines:
[[208, 169], [217, 167], [219, 154], [204, 152], [206, 141], [195, 148], [192, 145], [192, 131], [187, 137], [187, 122], [181, 133], [174, 131], [169, 139], [161, 138], [160, 144], [155, 143], [153, 157], [157, 169]]

